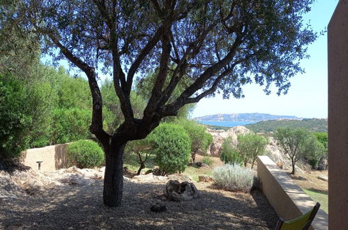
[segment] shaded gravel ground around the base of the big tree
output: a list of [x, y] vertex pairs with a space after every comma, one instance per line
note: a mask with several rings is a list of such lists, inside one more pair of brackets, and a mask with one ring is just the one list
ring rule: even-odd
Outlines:
[[[165, 182], [125, 181], [123, 207], [103, 206], [103, 181], [71, 185], [17, 199], [0, 199], [0, 229], [274, 229], [278, 220], [264, 194], [218, 190], [195, 183], [200, 197], [167, 201]], [[153, 213], [152, 205], [165, 205]]]

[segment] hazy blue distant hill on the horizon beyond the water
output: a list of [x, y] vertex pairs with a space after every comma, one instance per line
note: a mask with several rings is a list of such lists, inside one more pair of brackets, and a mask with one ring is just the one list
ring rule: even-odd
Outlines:
[[301, 119], [296, 116], [279, 116], [271, 114], [215, 114], [195, 118], [195, 121], [268, 121], [277, 119]]

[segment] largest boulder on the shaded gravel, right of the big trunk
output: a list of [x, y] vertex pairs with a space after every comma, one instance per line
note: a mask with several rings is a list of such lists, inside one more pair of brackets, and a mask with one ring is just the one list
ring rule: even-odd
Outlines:
[[179, 181], [170, 180], [165, 187], [169, 201], [188, 201], [199, 197], [197, 187], [188, 181], [179, 183]]

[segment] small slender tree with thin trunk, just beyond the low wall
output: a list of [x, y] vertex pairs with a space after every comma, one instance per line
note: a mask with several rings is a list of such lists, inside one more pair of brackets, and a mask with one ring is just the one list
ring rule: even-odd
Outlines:
[[279, 128], [274, 137], [287, 158], [291, 160], [292, 174], [295, 174], [296, 162], [301, 159], [305, 152], [309, 151], [308, 138], [310, 138], [310, 133], [302, 128]]

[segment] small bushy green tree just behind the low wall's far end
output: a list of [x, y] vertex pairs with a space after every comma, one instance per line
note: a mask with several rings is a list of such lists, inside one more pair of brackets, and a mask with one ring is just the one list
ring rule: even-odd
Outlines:
[[255, 133], [238, 135], [237, 138], [238, 144], [236, 151], [241, 156], [244, 166], [246, 167], [246, 164], [250, 163], [252, 168], [257, 159], [257, 155], [263, 155], [265, 153], [268, 140]]

